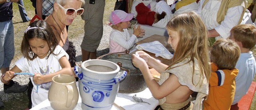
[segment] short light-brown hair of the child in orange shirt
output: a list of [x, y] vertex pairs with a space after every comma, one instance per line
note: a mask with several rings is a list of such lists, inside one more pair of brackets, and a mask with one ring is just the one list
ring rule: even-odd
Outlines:
[[240, 47], [231, 39], [218, 39], [213, 43], [210, 51], [210, 60], [218, 69], [234, 69], [239, 56]]

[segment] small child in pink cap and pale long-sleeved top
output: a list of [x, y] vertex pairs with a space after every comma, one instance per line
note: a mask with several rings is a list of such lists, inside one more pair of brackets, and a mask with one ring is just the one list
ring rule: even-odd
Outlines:
[[130, 20], [134, 14], [127, 14], [122, 10], [115, 10], [109, 16], [110, 25], [112, 24], [112, 31], [109, 39], [109, 53], [122, 52], [130, 49], [134, 43], [138, 41], [137, 37], [145, 35], [145, 30], [134, 27], [132, 36], [128, 33]]

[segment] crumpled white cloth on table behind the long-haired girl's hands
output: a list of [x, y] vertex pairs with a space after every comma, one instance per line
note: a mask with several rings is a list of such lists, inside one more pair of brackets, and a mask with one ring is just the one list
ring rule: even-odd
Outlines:
[[136, 49], [155, 53], [156, 57], [160, 56], [164, 59], [172, 59], [173, 57], [172, 53], [170, 53], [159, 41], [139, 44], [136, 46]]

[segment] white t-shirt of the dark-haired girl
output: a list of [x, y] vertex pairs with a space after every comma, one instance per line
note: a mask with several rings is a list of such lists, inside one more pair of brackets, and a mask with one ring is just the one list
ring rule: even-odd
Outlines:
[[[67, 59], [69, 58], [68, 54], [62, 47], [59, 45], [56, 46], [55, 50], [53, 51], [54, 54], [51, 54], [48, 59], [43, 58], [40, 59], [36, 57], [34, 60], [28, 60], [27, 58], [21, 57], [18, 61], [15, 62], [15, 65], [21, 70], [21, 71], [28, 71], [29, 73], [41, 73], [42, 75], [54, 73], [56, 71], [59, 71], [61, 68], [59, 59], [66, 55]], [[48, 66], [48, 67], [47, 67]], [[42, 68], [42, 70], [40, 70]], [[30, 76], [30, 79], [32, 80], [33, 77]], [[45, 83], [44, 88], [42, 88], [42, 84], [38, 86], [38, 92], [36, 93], [36, 84], [34, 81], [32, 81], [33, 89], [31, 94], [31, 100], [32, 100], [32, 107], [36, 106], [37, 104], [40, 104], [42, 101], [48, 99], [48, 87], [50, 87], [50, 83]]]

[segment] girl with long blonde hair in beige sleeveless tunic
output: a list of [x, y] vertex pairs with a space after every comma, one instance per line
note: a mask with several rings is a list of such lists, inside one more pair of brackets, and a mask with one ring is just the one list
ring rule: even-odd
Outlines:
[[[150, 92], [159, 100], [157, 110], [201, 110], [210, 76], [206, 27], [195, 12], [174, 17], [166, 27], [168, 43], [175, 51], [170, 65], [143, 51], [132, 55], [132, 63], [140, 69]], [[159, 82], [148, 67], [161, 73]], [[194, 106], [190, 96], [193, 91], [198, 92]]]

